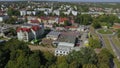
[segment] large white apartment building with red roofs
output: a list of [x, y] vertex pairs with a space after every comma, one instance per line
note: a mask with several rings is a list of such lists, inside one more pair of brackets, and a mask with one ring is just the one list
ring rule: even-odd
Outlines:
[[17, 28], [18, 40], [25, 42], [40, 38], [44, 33], [44, 26], [38, 24], [25, 24]]

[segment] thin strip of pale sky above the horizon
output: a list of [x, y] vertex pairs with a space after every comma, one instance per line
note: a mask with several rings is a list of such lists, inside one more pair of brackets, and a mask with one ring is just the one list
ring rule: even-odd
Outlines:
[[[26, 0], [0, 0], [0, 1], [26, 1]], [[120, 2], [120, 0], [31, 0], [31, 1], [63, 1], [63, 2]]]

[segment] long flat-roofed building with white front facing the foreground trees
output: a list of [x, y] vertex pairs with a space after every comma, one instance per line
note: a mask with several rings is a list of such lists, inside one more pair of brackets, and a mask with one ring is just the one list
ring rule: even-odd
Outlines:
[[[57, 39], [57, 48], [55, 50], [55, 56], [68, 55], [76, 44], [76, 38], [78, 34], [76, 32], [63, 32]], [[56, 44], [56, 43], [55, 43]]]

